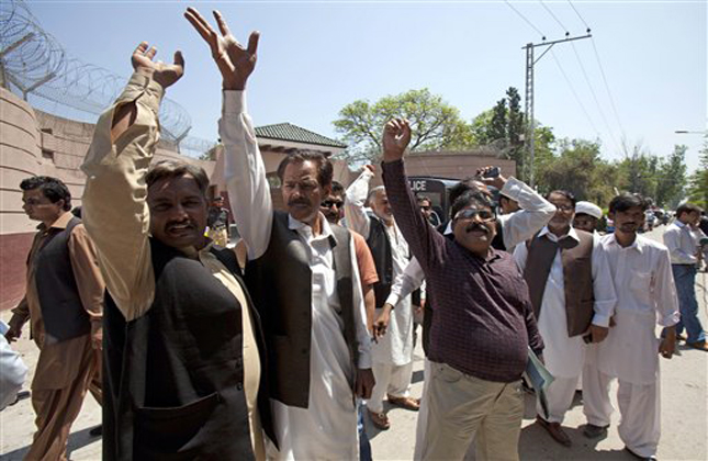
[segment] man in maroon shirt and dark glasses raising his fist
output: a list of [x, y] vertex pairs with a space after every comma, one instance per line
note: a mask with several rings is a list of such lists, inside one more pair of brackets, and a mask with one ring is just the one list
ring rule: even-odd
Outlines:
[[384, 185], [436, 302], [422, 457], [462, 459], [476, 439], [477, 460], [518, 460], [521, 373], [528, 348], [543, 349], [526, 283], [512, 256], [492, 247], [496, 216], [487, 195], [467, 192], [454, 201], [453, 239], [430, 226], [405, 176], [409, 142], [407, 121], [386, 124]]

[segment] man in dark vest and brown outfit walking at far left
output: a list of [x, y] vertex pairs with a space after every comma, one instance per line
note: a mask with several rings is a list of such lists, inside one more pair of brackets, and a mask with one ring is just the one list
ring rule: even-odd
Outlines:
[[8, 341], [31, 322], [40, 359], [32, 381], [37, 431], [25, 459], [64, 460], [71, 424], [87, 390], [101, 403], [98, 382], [104, 284], [95, 249], [71, 214], [64, 182], [45, 176], [20, 183], [23, 209], [40, 221], [27, 256], [26, 294], [13, 310]]

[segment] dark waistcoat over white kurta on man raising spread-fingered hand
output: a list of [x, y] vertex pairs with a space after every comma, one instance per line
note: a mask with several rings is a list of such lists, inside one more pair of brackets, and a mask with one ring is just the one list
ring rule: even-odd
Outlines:
[[[246, 283], [263, 322], [268, 342], [270, 396], [285, 405], [307, 408], [310, 402], [310, 346], [312, 335], [312, 272], [308, 248], [288, 226], [288, 213], [273, 212], [268, 249], [246, 267]], [[329, 238], [337, 294], [349, 347], [357, 370], [358, 344], [349, 231], [330, 224]], [[353, 375], [350, 382], [353, 391]]]

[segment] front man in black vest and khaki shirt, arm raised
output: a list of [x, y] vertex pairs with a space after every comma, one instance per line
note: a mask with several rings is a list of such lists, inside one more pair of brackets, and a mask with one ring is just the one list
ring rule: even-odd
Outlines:
[[155, 54], [135, 49], [82, 165], [108, 289], [103, 459], [263, 460], [265, 342], [234, 252], [204, 237], [209, 178], [149, 168], [160, 101], [183, 72], [179, 52], [172, 65]]

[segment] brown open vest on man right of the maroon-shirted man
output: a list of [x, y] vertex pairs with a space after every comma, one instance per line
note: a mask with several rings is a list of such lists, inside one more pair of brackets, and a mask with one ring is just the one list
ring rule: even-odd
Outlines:
[[563, 263], [567, 336], [582, 335], [593, 322], [593, 234], [575, 229], [580, 241], [565, 237], [559, 243], [538, 235], [527, 241], [528, 257], [524, 279], [529, 286], [536, 318], [541, 312], [543, 292], [560, 246]]

